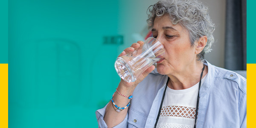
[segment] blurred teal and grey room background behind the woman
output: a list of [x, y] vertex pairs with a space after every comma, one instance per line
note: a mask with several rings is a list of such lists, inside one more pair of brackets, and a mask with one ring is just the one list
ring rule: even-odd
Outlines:
[[[225, 51], [246, 49], [246, 33], [245, 46], [225, 49], [228, 26], [240, 23], [227, 20], [226, 5], [232, 0], [201, 1], [216, 25], [206, 59], [229, 68], [224, 60], [232, 57]], [[240, 3], [231, 9], [238, 10], [244, 0], [235, 1]], [[146, 12], [156, 2], [9, 0], [9, 128], [97, 128], [95, 111], [109, 102], [120, 81], [114, 61], [123, 49], [144, 40]], [[246, 50], [238, 54], [245, 58], [232, 62], [241, 63], [232, 70], [246, 70]]]

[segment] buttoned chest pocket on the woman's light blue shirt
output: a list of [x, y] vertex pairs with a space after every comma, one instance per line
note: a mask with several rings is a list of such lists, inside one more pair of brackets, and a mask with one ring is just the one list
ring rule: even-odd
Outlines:
[[147, 117], [143, 116], [141, 113], [138, 113], [132, 109], [129, 110], [128, 128], [145, 128], [146, 121]]

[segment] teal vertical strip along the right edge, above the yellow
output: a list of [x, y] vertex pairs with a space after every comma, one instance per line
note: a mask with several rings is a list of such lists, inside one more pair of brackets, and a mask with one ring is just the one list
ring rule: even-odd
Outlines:
[[256, 64], [255, 5], [255, 0], [247, 0], [247, 64]]

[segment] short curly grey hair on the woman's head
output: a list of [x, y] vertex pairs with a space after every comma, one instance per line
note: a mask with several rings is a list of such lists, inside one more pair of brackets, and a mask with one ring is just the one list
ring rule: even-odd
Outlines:
[[204, 49], [197, 55], [198, 61], [204, 60], [205, 53], [210, 52], [214, 37], [212, 35], [215, 25], [208, 14], [208, 7], [204, 6], [197, 0], [164, 0], [158, 1], [148, 7], [148, 24], [149, 28], [154, 26], [154, 19], [168, 14], [172, 24], [179, 23], [189, 32], [191, 46], [195, 41], [206, 35], [207, 44]]

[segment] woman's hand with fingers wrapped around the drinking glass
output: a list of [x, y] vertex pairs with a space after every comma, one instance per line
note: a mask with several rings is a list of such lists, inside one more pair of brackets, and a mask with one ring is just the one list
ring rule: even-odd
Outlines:
[[[131, 45], [131, 47], [126, 48], [118, 57], [126, 55], [128, 53], [133, 52], [134, 50], [138, 49], [139, 47], [143, 46], [144, 42], [143, 41], [138, 41], [137, 43], [134, 43]], [[143, 72], [134, 82], [126, 82], [123, 79], [121, 79], [119, 83], [119, 88], [120, 87], [125, 87], [127, 91], [133, 91], [134, 88], [141, 82], [143, 79], [145, 79], [146, 76], [148, 76], [149, 73], [151, 73], [154, 70], [154, 65], [149, 67], [145, 72]]]

